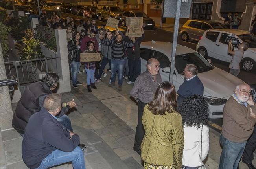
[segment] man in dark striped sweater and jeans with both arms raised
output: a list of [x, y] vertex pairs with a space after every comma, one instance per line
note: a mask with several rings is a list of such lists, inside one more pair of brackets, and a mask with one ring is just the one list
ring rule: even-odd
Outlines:
[[[127, 28], [127, 31], [129, 28]], [[123, 85], [123, 68], [125, 66], [126, 60], [125, 57], [125, 48], [132, 48], [135, 44], [135, 38], [131, 38], [131, 42], [124, 42], [122, 35], [116, 35], [116, 39], [114, 41], [109, 40], [106, 41], [103, 38], [103, 35], [100, 35], [100, 40], [102, 45], [108, 45], [112, 48], [112, 59], [111, 59], [111, 83], [108, 85], [109, 87], [115, 86], [116, 81], [116, 71], [118, 73], [118, 90], [122, 91]]]

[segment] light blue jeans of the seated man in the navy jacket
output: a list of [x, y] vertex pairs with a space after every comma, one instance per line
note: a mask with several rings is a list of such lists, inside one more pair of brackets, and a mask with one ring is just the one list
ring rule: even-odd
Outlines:
[[80, 147], [76, 147], [71, 152], [63, 152], [59, 149], [53, 151], [42, 160], [37, 169], [47, 169], [71, 161], [74, 169], [85, 169], [85, 158]]

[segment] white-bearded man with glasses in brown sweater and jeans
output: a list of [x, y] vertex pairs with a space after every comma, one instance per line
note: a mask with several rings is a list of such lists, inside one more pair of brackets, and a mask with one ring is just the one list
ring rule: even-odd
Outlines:
[[219, 169], [237, 169], [246, 141], [252, 135], [256, 123], [256, 105], [247, 84], [236, 86], [234, 94], [223, 109], [223, 125], [220, 135], [221, 152]]

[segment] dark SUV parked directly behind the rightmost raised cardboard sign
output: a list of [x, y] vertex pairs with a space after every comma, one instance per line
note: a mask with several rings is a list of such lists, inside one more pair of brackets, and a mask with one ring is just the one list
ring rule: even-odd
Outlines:
[[126, 26], [126, 17], [143, 17], [144, 29], [153, 29], [155, 27], [155, 21], [142, 11], [123, 11], [121, 18], [122, 26]]

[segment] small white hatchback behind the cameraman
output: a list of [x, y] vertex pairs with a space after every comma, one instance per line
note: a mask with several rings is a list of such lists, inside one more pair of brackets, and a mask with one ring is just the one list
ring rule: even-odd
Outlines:
[[[250, 32], [238, 29], [210, 29], [204, 32], [201, 40], [197, 43], [196, 50], [203, 57], [213, 57], [221, 61], [230, 62], [232, 56], [228, 55], [228, 35], [239, 38], [239, 42], [249, 43], [249, 49], [245, 51], [240, 63], [241, 69], [252, 72], [256, 69], [256, 36]], [[235, 48], [235, 50], [237, 50]]]

